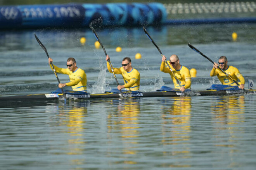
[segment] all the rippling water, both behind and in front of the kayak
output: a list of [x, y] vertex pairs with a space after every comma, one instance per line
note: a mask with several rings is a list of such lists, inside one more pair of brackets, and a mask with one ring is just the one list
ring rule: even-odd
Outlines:
[[[246, 79], [256, 80], [256, 24], [147, 27], [166, 56], [197, 69], [192, 89], [204, 90], [217, 78], [212, 64], [187, 46], [191, 43], [214, 61], [225, 55]], [[142, 28], [97, 29], [114, 67], [130, 56], [140, 71], [141, 91], [173, 87], [159, 68], [161, 55]], [[232, 41], [232, 32], [238, 39]], [[57, 88], [47, 56], [57, 66], [68, 57], [87, 74], [88, 91], [116, 87], [102, 49], [89, 29], [0, 32], [0, 95], [48, 93]], [[86, 44], [80, 38], [86, 37]], [[117, 46], [122, 51], [115, 51]], [[142, 59], [135, 59], [141, 53]], [[66, 75], [58, 75], [67, 82]], [[117, 76], [120, 83], [122, 79]], [[247, 84], [245, 86], [247, 88]], [[256, 167], [255, 95], [99, 99], [12, 103], [0, 106], [2, 169], [211, 169]]]

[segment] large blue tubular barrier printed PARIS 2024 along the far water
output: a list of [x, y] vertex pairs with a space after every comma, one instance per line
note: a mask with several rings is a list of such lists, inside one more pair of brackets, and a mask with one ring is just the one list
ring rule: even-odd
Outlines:
[[161, 3], [71, 3], [0, 7], [0, 29], [88, 27], [99, 18], [103, 26], [152, 25], [163, 24], [167, 13]]

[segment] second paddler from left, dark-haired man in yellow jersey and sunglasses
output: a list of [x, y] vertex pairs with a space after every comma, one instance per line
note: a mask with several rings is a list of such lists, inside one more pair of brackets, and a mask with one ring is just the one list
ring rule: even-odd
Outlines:
[[[106, 61], [110, 59], [109, 56], [106, 56]], [[109, 62], [107, 62], [107, 69], [110, 73], [111, 67]], [[138, 70], [131, 66], [131, 59], [129, 57], [125, 57], [122, 61], [122, 67], [113, 68], [115, 74], [121, 74], [123, 76], [123, 80], [125, 82], [124, 85], [119, 85], [118, 90], [125, 88], [126, 90], [131, 91], [139, 91], [140, 90], [140, 73]]]

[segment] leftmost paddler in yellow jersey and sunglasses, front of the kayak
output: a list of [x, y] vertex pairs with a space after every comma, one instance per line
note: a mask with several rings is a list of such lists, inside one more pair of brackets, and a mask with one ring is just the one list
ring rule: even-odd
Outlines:
[[[52, 62], [52, 58], [48, 59], [48, 62]], [[52, 66], [51, 66], [52, 68]], [[59, 68], [54, 65], [54, 68], [56, 70], [56, 73], [62, 73], [69, 75], [70, 82], [68, 83], [59, 83], [59, 88], [65, 87], [65, 86], [72, 86], [72, 89], [74, 91], [83, 91], [86, 92], [86, 74], [85, 71], [83, 71], [81, 68], [78, 68], [76, 66], [76, 60], [74, 58], [68, 58], [67, 59], [67, 68]], [[53, 70], [53, 68], [52, 68]]]

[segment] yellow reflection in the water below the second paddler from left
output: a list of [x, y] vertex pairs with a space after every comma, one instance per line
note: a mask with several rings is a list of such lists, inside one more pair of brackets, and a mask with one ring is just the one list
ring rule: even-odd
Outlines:
[[[139, 116], [140, 116], [140, 102], [139, 99], [125, 99], [122, 101], [112, 100], [115, 105], [113, 114], [108, 117], [108, 131], [109, 133], [120, 133], [120, 139], [123, 143], [122, 155], [123, 163], [137, 164], [136, 160], [130, 161], [130, 155], [137, 155], [138, 153], [138, 139], [139, 133]], [[111, 122], [113, 121], [113, 122]], [[117, 126], [111, 126], [111, 124]]]

